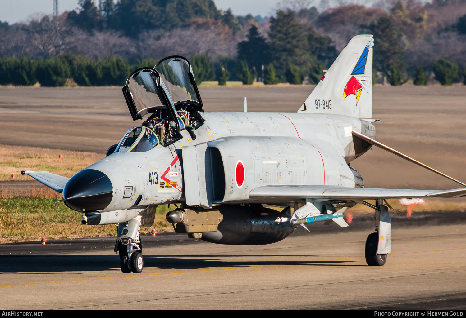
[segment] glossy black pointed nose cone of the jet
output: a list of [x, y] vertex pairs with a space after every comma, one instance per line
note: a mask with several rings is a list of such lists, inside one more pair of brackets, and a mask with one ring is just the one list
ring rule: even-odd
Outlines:
[[68, 180], [63, 188], [65, 204], [73, 210], [96, 211], [109, 206], [113, 186], [105, 173], [84, 169]]

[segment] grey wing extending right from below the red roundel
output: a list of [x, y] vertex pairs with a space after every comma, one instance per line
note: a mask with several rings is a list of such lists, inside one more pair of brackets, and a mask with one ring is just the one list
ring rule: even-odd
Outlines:
[[343, 186], [260, 186], [249, 192], [253, 200], [273, 203], [302, 199], [333, 199], [339, 201], [404, 199], [404, 198], [459, 198], [466, 196], [466, 188], [446, 191], [347, 188]]

